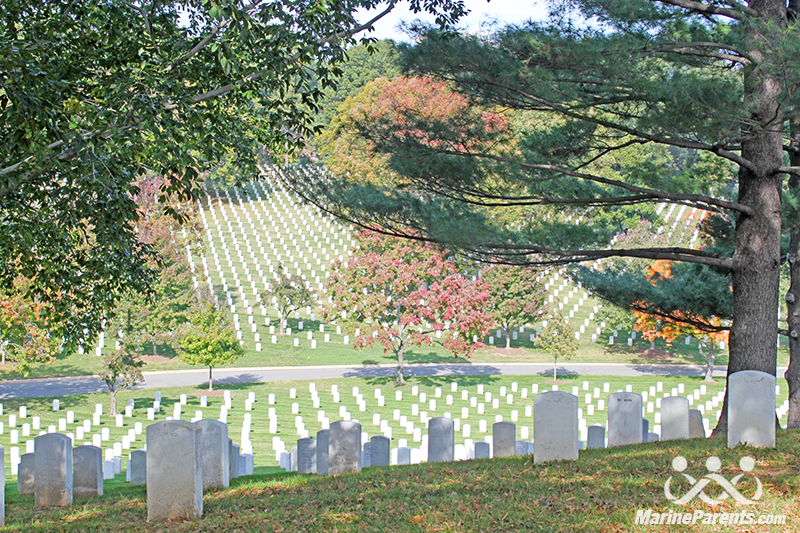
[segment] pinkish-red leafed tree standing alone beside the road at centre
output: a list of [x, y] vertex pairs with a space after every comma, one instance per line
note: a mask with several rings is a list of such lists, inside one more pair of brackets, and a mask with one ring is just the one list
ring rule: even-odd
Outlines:
[[326, 315], [355, 329], [358, 348], [383, 345], [397, 356], [403, 385], [406, 348], [438, 343], [454, 356], [469, 356], [483, 344], [491, 318], [484, 312], [489, 293], [471, 282], [434, 248], [373, 231], [356, 235], [347, 262], [335, 261], [328, 278], [331, 304]]

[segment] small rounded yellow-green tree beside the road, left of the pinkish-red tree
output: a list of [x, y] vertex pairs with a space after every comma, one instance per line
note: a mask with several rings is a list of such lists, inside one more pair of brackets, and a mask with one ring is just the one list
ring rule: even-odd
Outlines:
[[213, 304], [200, 305], [189, 316], [179, 345], [181, 361], [208, 367], [208, 390], [213, 389], [214, 367], [233, 363], [244, 354], [225, 313]]

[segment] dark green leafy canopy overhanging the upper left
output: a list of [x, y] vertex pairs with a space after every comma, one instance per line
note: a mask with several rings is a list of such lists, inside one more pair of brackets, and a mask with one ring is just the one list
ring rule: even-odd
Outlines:
[[[460, 1], [410, 0], [442, 25]], [[152, 282], [136, 177], [197, 198], [227, 148], [241, 175], [314, 131], [346, 49], [394, 2], [4, 1], [0, 5], [0, 283], [32, 280], [71, 338]], [[169, 210], [169, 209], [168, 209]], [[180, 214], [171, 212], [180, 218]]]

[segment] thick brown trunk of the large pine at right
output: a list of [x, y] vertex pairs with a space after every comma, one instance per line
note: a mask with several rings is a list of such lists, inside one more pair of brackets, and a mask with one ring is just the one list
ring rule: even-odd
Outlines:
[[[765, 59], [764, 49], [786, 27], [786, 4], [779, 0], [754, 0], [750, 7], [762, 22], [774, 23], [775, 31], [762, 25], [747, 26], [750, 53], [756, 64]], [[777, 37], [776, 37], [777, 38]], [[759, 370], [775, 375], [781, 236], [781, 182], [775, 173], [783, 159], [782, 122], [778, 80], [758, 67], [745, 73], [745, 105], [750, 121], [743, 127], [742, 157], [751, 164], [739, 167], [738, 201], [752, 214], [736, 214], [736, 251], [733, 255], [733, 324], [730, 332], [728, 377], [740, 370]], [[726, 378], [727, 381], [727, 378]], [[728, 390], [714, 434], [728, 429]]]

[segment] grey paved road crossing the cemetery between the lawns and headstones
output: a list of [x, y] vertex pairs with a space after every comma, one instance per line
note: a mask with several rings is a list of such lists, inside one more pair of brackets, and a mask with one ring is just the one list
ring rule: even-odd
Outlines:
[[[448, 376], [497, 376], [497, 375], [549, 375], [553, 366], [548, 363], [452, 363], [445, 365], [407, 365], [406, 376], [416, 377], [418, 382], [442, 383]], [[370, 378], [393, 376], [396, 366], [301, 366], [268, 368], [229, 368], [214, 371], [214, 384], [258, 383], [294, 379]], [[785, 367], [778, 368], [783, 376]], [[561, 364], [561, 375], [581, 376], [702, 376], [704, 368], [695, 365], [650, 365], [618, 363]], [[726, 368], [715, 367], [714, 376], [724, 377]], [[208, 382], [208, 370], [175, 370], [145, 372], [145, 382], [140, 389], [202, 385]], [[0, 381], [0, 400], [33, 398], [38, 396], [64, 396], [105, 392], [106, 386], [97, 376], [66, 377], [52, 379], [30, 379]]]

